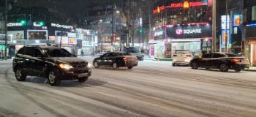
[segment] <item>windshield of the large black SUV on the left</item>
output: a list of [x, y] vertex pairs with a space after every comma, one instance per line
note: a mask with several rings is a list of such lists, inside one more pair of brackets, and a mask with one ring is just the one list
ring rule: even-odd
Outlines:
[[74, 57], [71, 53], [63, 48], [58, 49], [43, 49], [44, 53], [46, 53], [50, 57]]

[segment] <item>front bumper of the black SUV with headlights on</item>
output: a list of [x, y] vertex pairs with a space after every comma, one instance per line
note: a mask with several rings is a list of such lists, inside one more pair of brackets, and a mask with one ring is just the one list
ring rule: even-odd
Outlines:
[[72, 69], [60, 72], [61, 80], [77, 80], [79, 78], [90, 77], [91, 68], [88, 69]]

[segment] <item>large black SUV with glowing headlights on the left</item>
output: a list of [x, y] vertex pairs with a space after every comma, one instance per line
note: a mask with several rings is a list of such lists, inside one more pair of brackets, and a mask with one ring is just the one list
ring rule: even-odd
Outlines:
[[59, 86], [61, 80], [85, 82], [91, 76], [87, 61], [52, 46], [20, 48], [12, 69], [18, 81], [26, 80], [27, 75], [38, 76], [48, 78], [51, 86]]

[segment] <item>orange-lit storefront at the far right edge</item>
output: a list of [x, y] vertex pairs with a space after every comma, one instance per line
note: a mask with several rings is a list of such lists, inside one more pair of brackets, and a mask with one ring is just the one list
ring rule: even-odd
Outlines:
[[256, 66], [256, 24], [246, 26], [246, 40], [244, 42], [244, 55], [249, 59], [251, 66]]

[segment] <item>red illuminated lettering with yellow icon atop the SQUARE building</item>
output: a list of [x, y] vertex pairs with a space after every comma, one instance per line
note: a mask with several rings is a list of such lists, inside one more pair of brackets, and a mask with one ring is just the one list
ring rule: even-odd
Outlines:
[[189, 8], [189, 7], [201, 7], [203, 6], [202, 1], [197, 1], [197, 2], [188, 2], [184, 1], [184, 3], [172, 3], [170, 4], [170, 8]]

